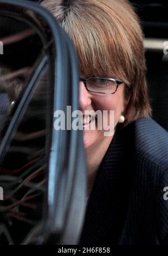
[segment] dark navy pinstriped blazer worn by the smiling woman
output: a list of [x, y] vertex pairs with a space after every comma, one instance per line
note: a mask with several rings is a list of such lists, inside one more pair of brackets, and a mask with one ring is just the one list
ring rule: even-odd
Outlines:
[[168, 244], [168, 133], [152, 118], [115, 133], [88, 199], [80, 244]]

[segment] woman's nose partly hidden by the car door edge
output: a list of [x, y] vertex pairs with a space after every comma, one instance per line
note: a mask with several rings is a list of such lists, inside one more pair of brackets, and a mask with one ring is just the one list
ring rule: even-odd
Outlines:
[[92, 103], [91, 94], [87, 91], [85, 84], [80, 82], [80, 96], [79, 96], [79, 104], [81, 110], [87, 108]]

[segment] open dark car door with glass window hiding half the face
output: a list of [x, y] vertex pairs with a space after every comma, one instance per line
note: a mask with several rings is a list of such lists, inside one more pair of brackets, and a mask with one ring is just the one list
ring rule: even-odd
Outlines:
[[77, 244], [85, 213], [82, 131], [55, 129], [78, 109], [76, 52], [55, 18], [0, 0], [0, 244]]

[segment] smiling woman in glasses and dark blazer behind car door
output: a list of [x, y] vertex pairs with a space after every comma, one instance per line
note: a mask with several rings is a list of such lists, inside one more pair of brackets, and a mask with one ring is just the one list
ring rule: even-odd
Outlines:
[[168, 138], [150, 117], [143, 35], [133, 7], [125, 0], [42, 5], [76, 46], [82, 113], [115, 113], [113, 135], [105, 137], [97, 126], [83, 131], [89, 198], [80, 244], [168, 243]]

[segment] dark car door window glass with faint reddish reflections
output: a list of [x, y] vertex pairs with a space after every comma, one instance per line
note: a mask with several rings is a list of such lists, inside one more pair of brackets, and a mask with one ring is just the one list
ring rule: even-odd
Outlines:
[[[7, 21], [8, 18], [4, 18], [4, 22]], [[4, 42], [4, 54], [0, 58], [0, 146], [42, 59], [38, 35], [27, 25], [20, 24], [18, 27], [18, 31], [9, 31], [8, 34], [3, 34], [1, 30], [0, 35], [0, 41]], [[0, 160], [0, 186], [3, 188], [0, 244], [24, 243], [30, 232], [40, 224], [43, 215], [47, 79], [48, 70], [45, 69], [43, 76], [35, 83], [36, 89], [12, 134], [4, 159]], [[36, 243], [36, 239], [33, 238], [30, 243]]]

